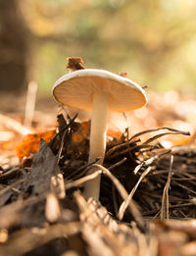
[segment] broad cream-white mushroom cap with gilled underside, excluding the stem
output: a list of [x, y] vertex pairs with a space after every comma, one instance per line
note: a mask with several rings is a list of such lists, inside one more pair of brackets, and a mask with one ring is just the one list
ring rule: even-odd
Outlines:
[[60, 77], [53, 86], [58, 102], [88, 111], [93, 108], [95, 92], [109, 95], [109, 112], [130, 111], [147, 103], [146, 93], [137, 83], [103, 70], [78, 70]]

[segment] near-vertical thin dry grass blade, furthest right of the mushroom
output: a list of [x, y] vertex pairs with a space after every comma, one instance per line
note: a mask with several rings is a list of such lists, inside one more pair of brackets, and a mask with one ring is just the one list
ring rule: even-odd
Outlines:
[[172, 179], [172, 163], [173, 163], [173, 155], [171, 156], [171, 163], [169, 169], [168, 180], [166, 186], [164, 187], [163, 197], [162, 197], [162, 209], [161, 209], [161, 220], [169, 220], [169, 188]]

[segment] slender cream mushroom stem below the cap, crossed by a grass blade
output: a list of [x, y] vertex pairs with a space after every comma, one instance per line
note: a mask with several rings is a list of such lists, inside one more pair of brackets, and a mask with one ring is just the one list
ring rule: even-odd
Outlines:
[[[90, 152], [88, 162], [94, 161], [100, 157], [98, 161], [102, 164], [106, 150], [106, 129], [107, 129], [107, 112], [108, 112], [107, 93], [95, 92], [93, 95], [93, 112], [91, 118], [90, 129]], [[98, 176], [95, 179], [89, 180], [84, 186], [84, 197], [88, 199], [93, 197], [95, 200], [99, 199], [100, 179]]]

